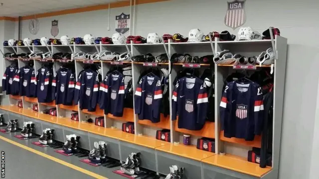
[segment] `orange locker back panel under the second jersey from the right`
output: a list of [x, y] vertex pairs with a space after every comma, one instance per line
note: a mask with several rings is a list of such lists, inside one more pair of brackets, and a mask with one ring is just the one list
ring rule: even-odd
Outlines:
[[215, 122], [207, 121], [201, 130], [192, 131], [192, 130], [178, 128], [178, 118], [177, 118], [175, 122], [175, 131], [184, 133], [184, 134], [190, 134], [194, 136], [208, 137], [208, 138], [215, 139]]

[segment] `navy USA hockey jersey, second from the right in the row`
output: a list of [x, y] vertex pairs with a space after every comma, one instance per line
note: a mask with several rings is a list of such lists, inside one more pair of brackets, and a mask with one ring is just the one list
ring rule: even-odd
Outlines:
[[204, 81], [197, 77], [183, 77], [177, 81], [172, 95], [172, 120], [176, 120], [178, 114], [178, 128], [203, 128], [208, 107], [206, 90]]

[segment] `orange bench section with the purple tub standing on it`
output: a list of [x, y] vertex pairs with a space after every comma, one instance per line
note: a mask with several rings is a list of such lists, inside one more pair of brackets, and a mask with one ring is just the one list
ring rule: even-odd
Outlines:
[[215, 155], [215, 153], [212, 153], [212, 152], [199, 150], [196, 148], [196, 146], [186, 146], [183, 144], [178, 144], [178, 145], [168, 144], [168, 145], [157, 147], [156, 150], [178, 155], [178, 156], [196, 160], [196, 161], [201, 161], [207, 157], [211, 157]]

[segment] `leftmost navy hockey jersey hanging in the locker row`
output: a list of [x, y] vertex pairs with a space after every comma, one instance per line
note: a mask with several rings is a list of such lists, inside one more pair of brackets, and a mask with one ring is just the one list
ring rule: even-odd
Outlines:
[[13, 83], [15, 73], [18, 68], [15, 66], [8, 66], [2, 77], [2, 90], [6, 91], [6, 94], [18, 95], [18, 87]]

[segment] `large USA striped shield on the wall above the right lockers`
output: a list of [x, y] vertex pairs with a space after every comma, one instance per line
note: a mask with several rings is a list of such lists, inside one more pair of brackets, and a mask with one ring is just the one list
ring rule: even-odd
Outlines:
[[227, 2], [227, 12], [224, 20], [226, 26], [235, 30], [246, 22], [245, 1], [235, 0]]

